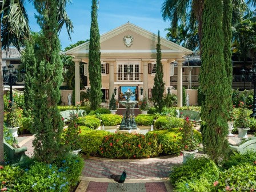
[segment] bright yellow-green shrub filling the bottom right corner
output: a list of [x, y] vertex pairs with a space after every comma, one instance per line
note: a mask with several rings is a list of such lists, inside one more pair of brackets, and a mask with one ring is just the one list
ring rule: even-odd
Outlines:
[[254, 191], [256, 166], [251, 163], [236, 165], [219, 174], [216, 191]]

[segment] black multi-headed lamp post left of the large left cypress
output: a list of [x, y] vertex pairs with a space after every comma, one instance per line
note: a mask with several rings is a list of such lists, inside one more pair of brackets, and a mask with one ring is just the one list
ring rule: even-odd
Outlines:
[[[16, 82], [22, 82], [24, 80], [24, 75], [26, 73], [25, 69], [22, 69], [19, 73], [17, 69], [13, 71], [14, 65], [7, 65], [8, 69], [6, 69], [6, 66], [3, 66], [3, 82], [8, 83], [10, 86], [10, 106], [13, 105], [13, 85], [15, 85]], [[9, 75], [7, 75], [9, 73]]]

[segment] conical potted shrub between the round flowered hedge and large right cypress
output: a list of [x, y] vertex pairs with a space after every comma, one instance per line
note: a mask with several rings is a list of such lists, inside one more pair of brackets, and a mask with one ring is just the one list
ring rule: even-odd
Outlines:
[[185, 118], [185, 123], [182, 129], [182, 141], [181, 141], [181, 149], [183, 154], [183, 163], [187, 161], [189, 158], [194, 158], [195, 153], [198, 152], [198, 141], [195, 139], [194, 135], [194, 125], [193, 122], [190, 121], [189, 117]]

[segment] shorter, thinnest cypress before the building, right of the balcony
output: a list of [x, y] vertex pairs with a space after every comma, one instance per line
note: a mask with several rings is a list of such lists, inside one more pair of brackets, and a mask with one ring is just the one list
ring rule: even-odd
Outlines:
[[161, 53], [161, 44], [160, 44], [160, 35], [158, 31], [157, 37], [157, 71], [154, 77], [154, 86], [152, 90], [152, 100], [157, 107], [159, 113], [161, 113], [164, 104], [163, 101], [163, 92], [165, 91], [165, 82], [163, 82], [163, 64], [161, 62], [162, 53]]

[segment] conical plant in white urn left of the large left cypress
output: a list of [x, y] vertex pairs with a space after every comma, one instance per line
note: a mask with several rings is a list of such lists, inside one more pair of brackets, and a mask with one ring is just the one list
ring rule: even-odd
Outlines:
[[[9, 101], [9, 103], [11, 103], [11, 101]], [[10, 133], [13, 134], [13, 137], [18, 137], [19, 121], [15, 102], [13, 102], [9, 107], [9, 111], [6, 113], [6, 125]]]

